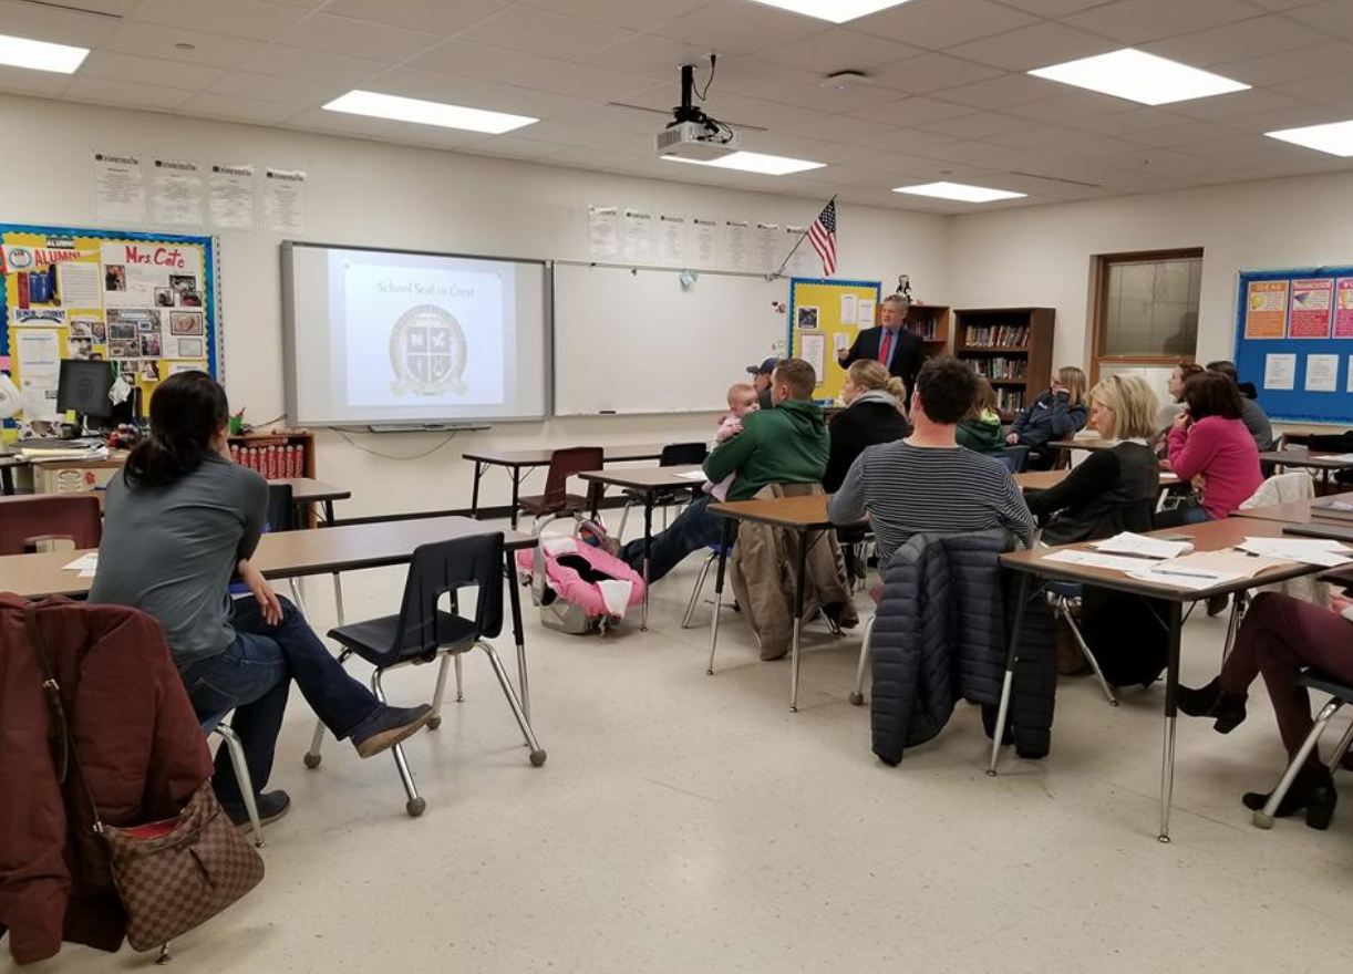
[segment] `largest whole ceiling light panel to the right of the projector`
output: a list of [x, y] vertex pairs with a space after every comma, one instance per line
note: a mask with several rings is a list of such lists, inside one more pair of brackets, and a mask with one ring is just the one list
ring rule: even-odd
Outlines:
[[1036, 68], [1034, 77], [1089, 88], [1104, 95], [1157, 106], [1246, 91], [1247, 84], [1124, 47], [1095, 57]]

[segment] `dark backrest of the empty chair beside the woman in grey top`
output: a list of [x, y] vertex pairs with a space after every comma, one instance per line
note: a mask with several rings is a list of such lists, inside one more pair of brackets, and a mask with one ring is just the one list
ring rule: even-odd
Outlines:
[[492, 639], [503, 625], [503, 536], [474, 534], [437, 541], [414, 549], [399, 606], [391, 659], [421, 656], [445, 645], [437, 630], [441, 597], [460, 588], [479, 587], [475, 602], [475, 639]]

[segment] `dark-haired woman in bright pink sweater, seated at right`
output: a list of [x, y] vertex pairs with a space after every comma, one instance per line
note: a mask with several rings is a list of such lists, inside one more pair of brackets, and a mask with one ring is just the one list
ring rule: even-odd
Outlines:
[[1170, 468], [1203, 480], [1203, 503], [1166, 511], [1162, 528], [1219, 521], [1264, 483], [1260, 452], [1241, 419], [1241, 392], [1227, 376], [1203, 372], [1184, 384], [1184, 411], [1170, 427]]

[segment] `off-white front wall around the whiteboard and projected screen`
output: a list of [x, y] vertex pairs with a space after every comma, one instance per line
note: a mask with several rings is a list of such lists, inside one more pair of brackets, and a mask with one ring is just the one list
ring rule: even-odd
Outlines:
[[[0, 216], [9, 222], [92, 226], [95, 149], [306, 169], [308, 239], [507, 257], [586, 258], [590, 203], [805, 223], [823, 202], [18, 96], [0, 96], [0, 124], [7, 145]], [[943, 218], [842, 206], [839, 225], [843, 276], [889, 281], [907, 272], [927, 300], [946, 302]], [[226, 388], [254, 421], [283, 411], [279, 244], [271, 234], [222, 234]], [[735, 380], [741, 363], [721, 361], [712, 349], [709, 367]], [[459, 434], [430, 456], [398, 465], [325, 432], [319, 476], [353, 488], [341, 511], [349, 517], [445, 509], [468, 503], [471, 465], [460, 453], [471, 446], [700, 440], [709, 432], [709, 417], [510, 423]], [[354, 437], [395, 457], [421, 455], [441, 438]], [[506, 501], [501, 471], [484, 490], [487, 503]]]

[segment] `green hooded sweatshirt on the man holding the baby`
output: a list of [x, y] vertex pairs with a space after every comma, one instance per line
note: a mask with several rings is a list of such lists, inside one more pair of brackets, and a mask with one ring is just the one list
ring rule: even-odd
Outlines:
[[705, 476], [737, 473], [728, 499], [750, 501], [766, 484], [820, 483], [829, 452], [821, 407], [787, 399], [744, 417], [743, 432], [705, 459]]

